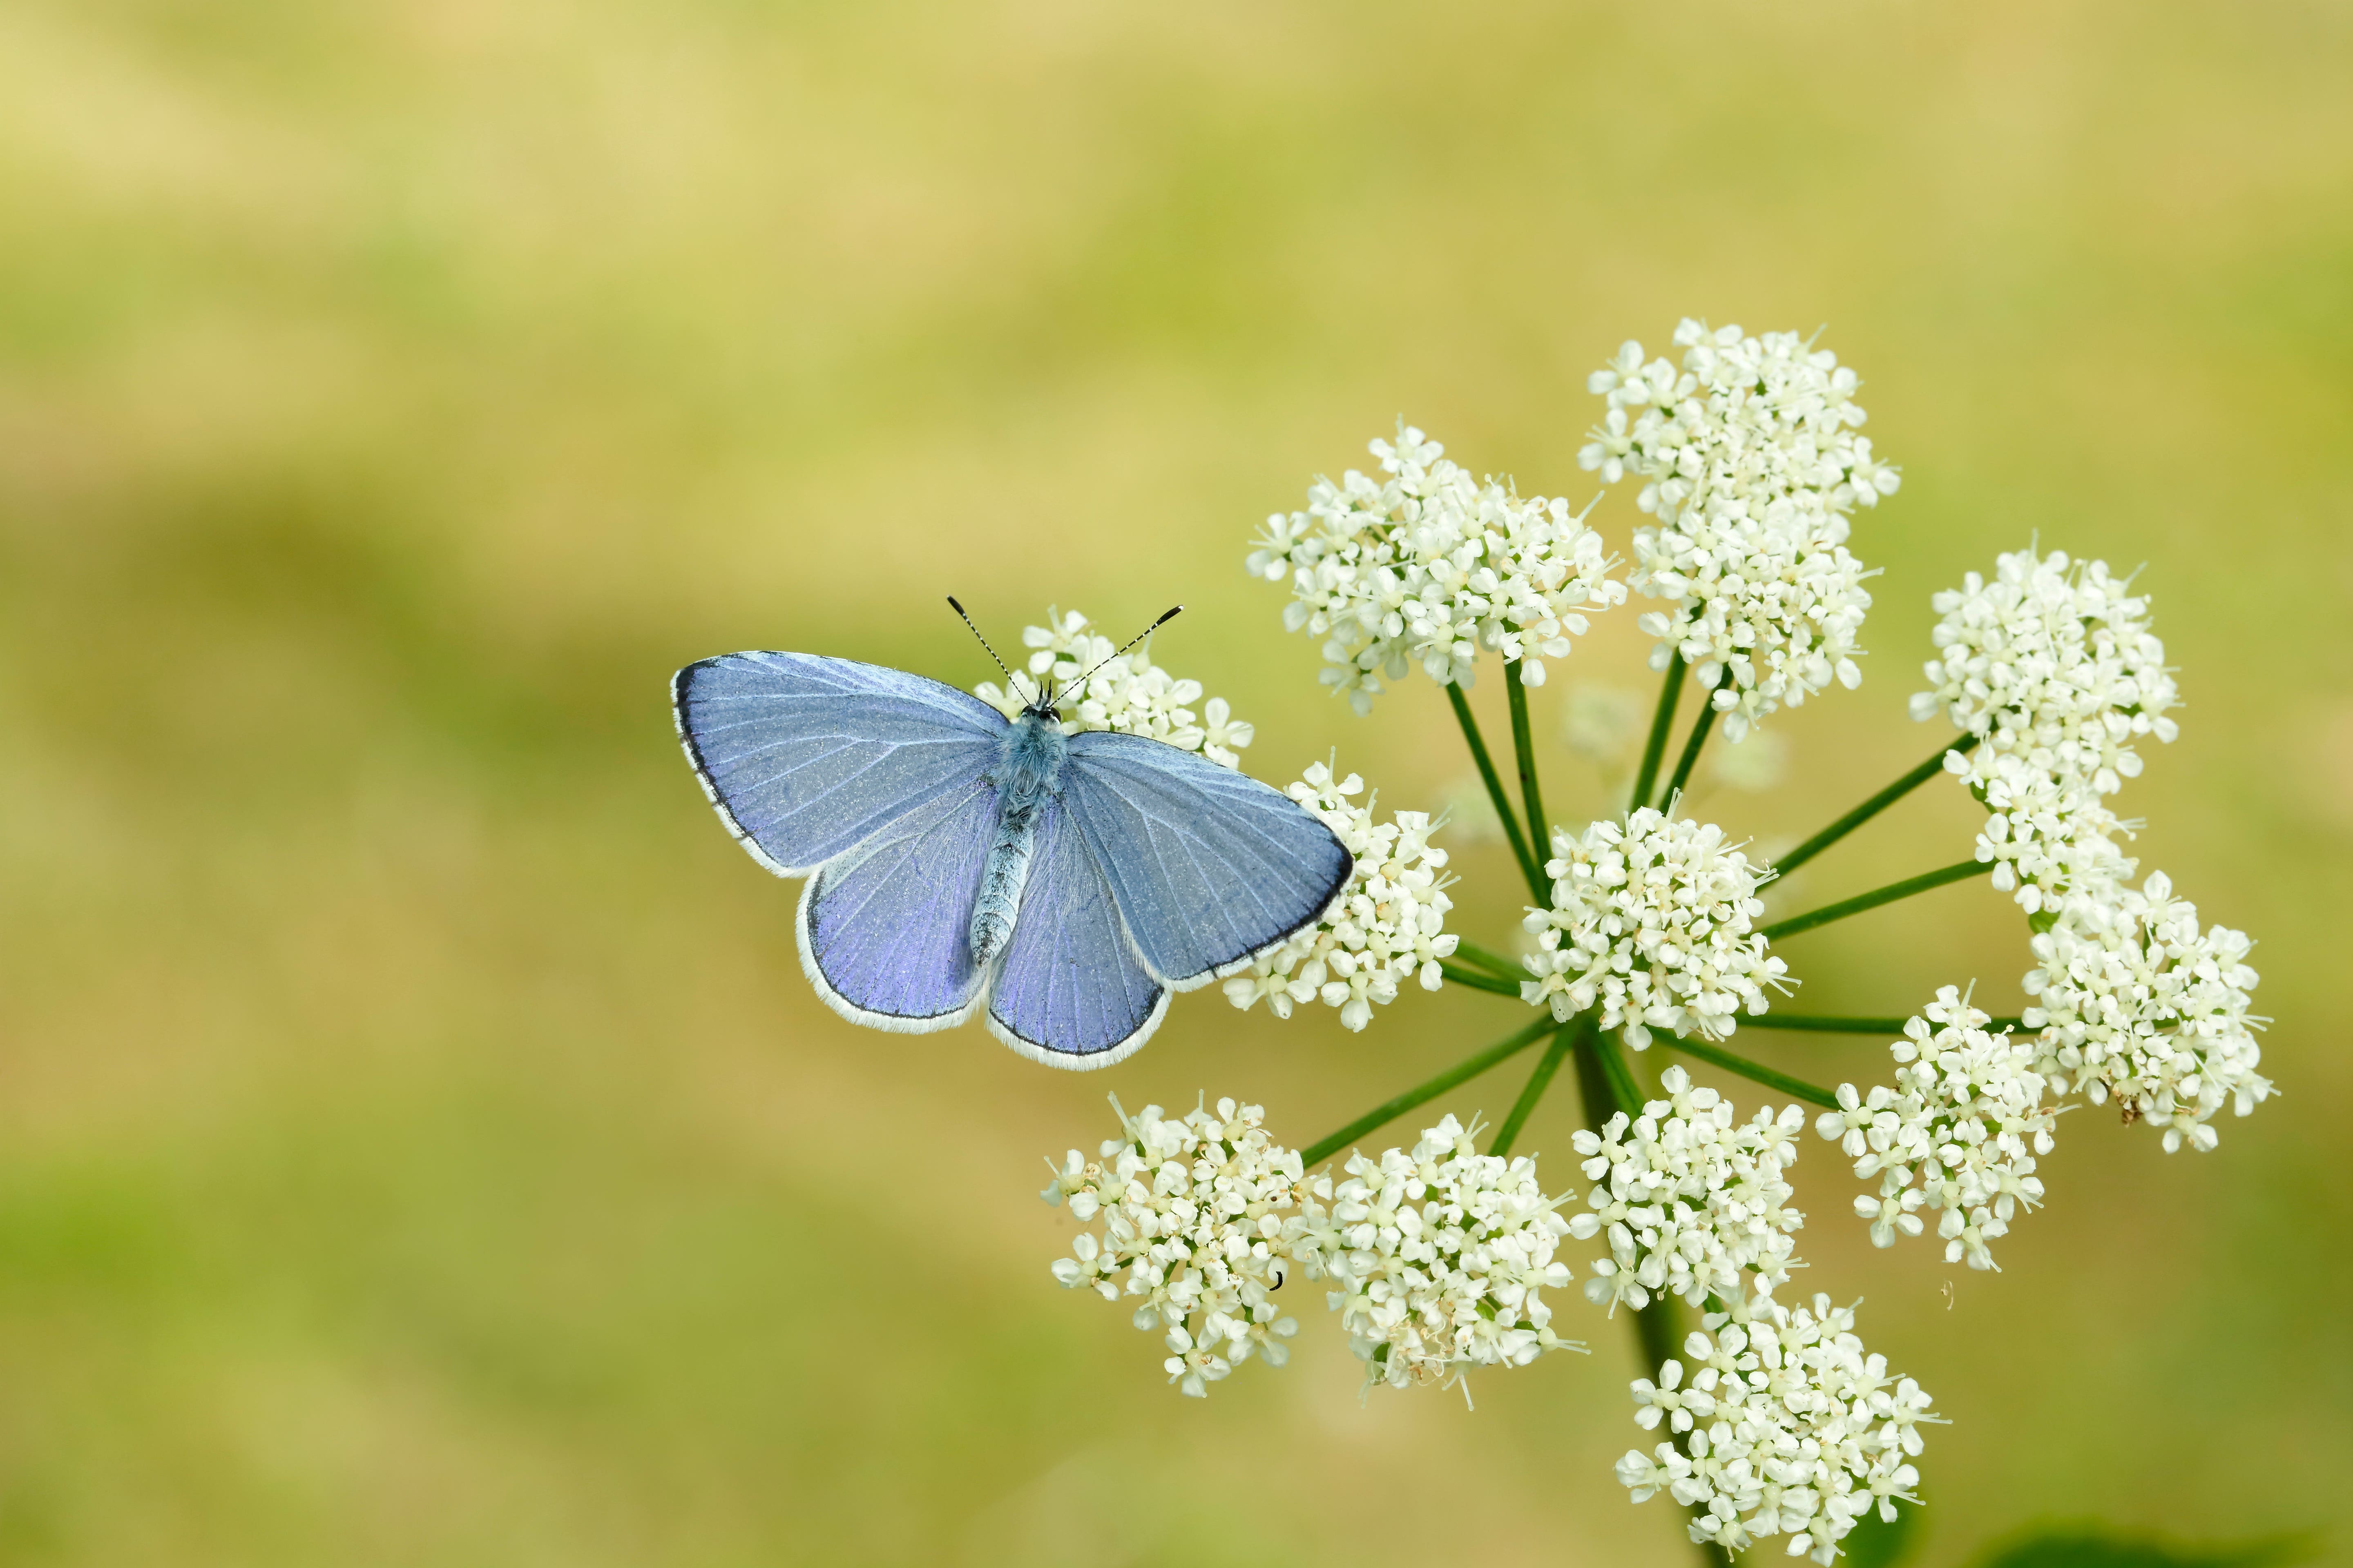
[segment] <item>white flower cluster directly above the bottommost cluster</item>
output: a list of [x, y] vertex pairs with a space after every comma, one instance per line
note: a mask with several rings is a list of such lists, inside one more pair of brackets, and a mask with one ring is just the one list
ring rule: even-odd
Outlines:
[[1798, 1161], [1805, 1112], [1791, 1105], [1777, 1117], [1767, 1107], [1737, 1124], [1732, 1100], [1694, 1088], [1682, 1067], [1668, 1067], [1659, 1086], [1666, 1098], [1640, 1117], [1619, 1112], [1600, 1133], [1577, 1133], [1595, 1185], [1586, 1194], [1591, 1213], [1569, 1220], [1569, 1234], [1609, 1241], [1586, 1300], [1612, 1312], [1619, 1302], [1640, 1312], [1652, 1295], [1680, 1295], [1694, 1307], [1706, 1307], [1708, 1295], [1737, 1302], [1748, 1300], [1744, 1269], [1755, 1274], [1758, 1293], [1772, 1293], [1788, 1279], [1791, 1234], [1805, 1225], [1781, 1178]]

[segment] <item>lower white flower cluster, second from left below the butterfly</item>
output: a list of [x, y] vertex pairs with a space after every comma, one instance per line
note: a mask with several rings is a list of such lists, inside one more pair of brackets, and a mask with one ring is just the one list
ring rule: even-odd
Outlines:
[[1461, 1382], [1473, 1366], [1584, 1349], [1553, 1333], [1544, 1300], [1569, 1284], [1553, 1260], [1569, 1227], [1537, 1187], [1537, 1161], [1480, 1154], [1475, 1131], [1447, 1117], [1412, 1152], [1353, 1154], [1341, 1182], [1308, 1182], [1294, 1251], [1337, 1286], [1369, 1382]]

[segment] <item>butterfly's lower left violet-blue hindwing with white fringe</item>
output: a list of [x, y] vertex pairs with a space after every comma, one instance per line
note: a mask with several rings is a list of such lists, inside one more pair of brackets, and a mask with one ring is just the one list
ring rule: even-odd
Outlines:
[[953, 785], [856, 849], [800, 893], [800, 966], [849, 1023], [927, 1034], [965, 1023], [986, 971], [967, 929], [998, 825], [998, 792]]

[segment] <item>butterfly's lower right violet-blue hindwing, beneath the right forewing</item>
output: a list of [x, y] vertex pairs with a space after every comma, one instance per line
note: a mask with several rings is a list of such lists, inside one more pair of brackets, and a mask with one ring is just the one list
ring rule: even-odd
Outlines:
[[1151, 1039], [1167, 1006], [1071, 811], [1047, 806], [988, 1032], [1047, 1067], [1108, 1067]]

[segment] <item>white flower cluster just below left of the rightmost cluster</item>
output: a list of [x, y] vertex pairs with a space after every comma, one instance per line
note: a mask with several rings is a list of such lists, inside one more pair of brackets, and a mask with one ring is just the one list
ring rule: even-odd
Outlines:
[[1840, 1084], [1838, 1110], [1814, 1121], [1854, 1159], [1857, 1175], [1880, 1178], [1878, 1197], [1854, 1199], [1873, 1246], [1892, 1246], [1897, 1232], [1918, 1237], [1915, 1211], [1925, 1204], [1944, 1211], [1944, 1260], [1991, 1269], [1998, 1265], [1986, 1244], [2009, 1234], [2009, 1215], [2042, 1197], [2035, 1154], [2052, 1152], [2059, 1119], [2059, 1107], [2042, 1100], [2049, 1081], [2035, 1070], [2042, 1046], [2031, 1034], [1988, 1034], [1988, 1023], [1946, 985], [1889, 1046], [1894, 1088], [1875, 1084], [1859, 1095], [1854, 1084]]

